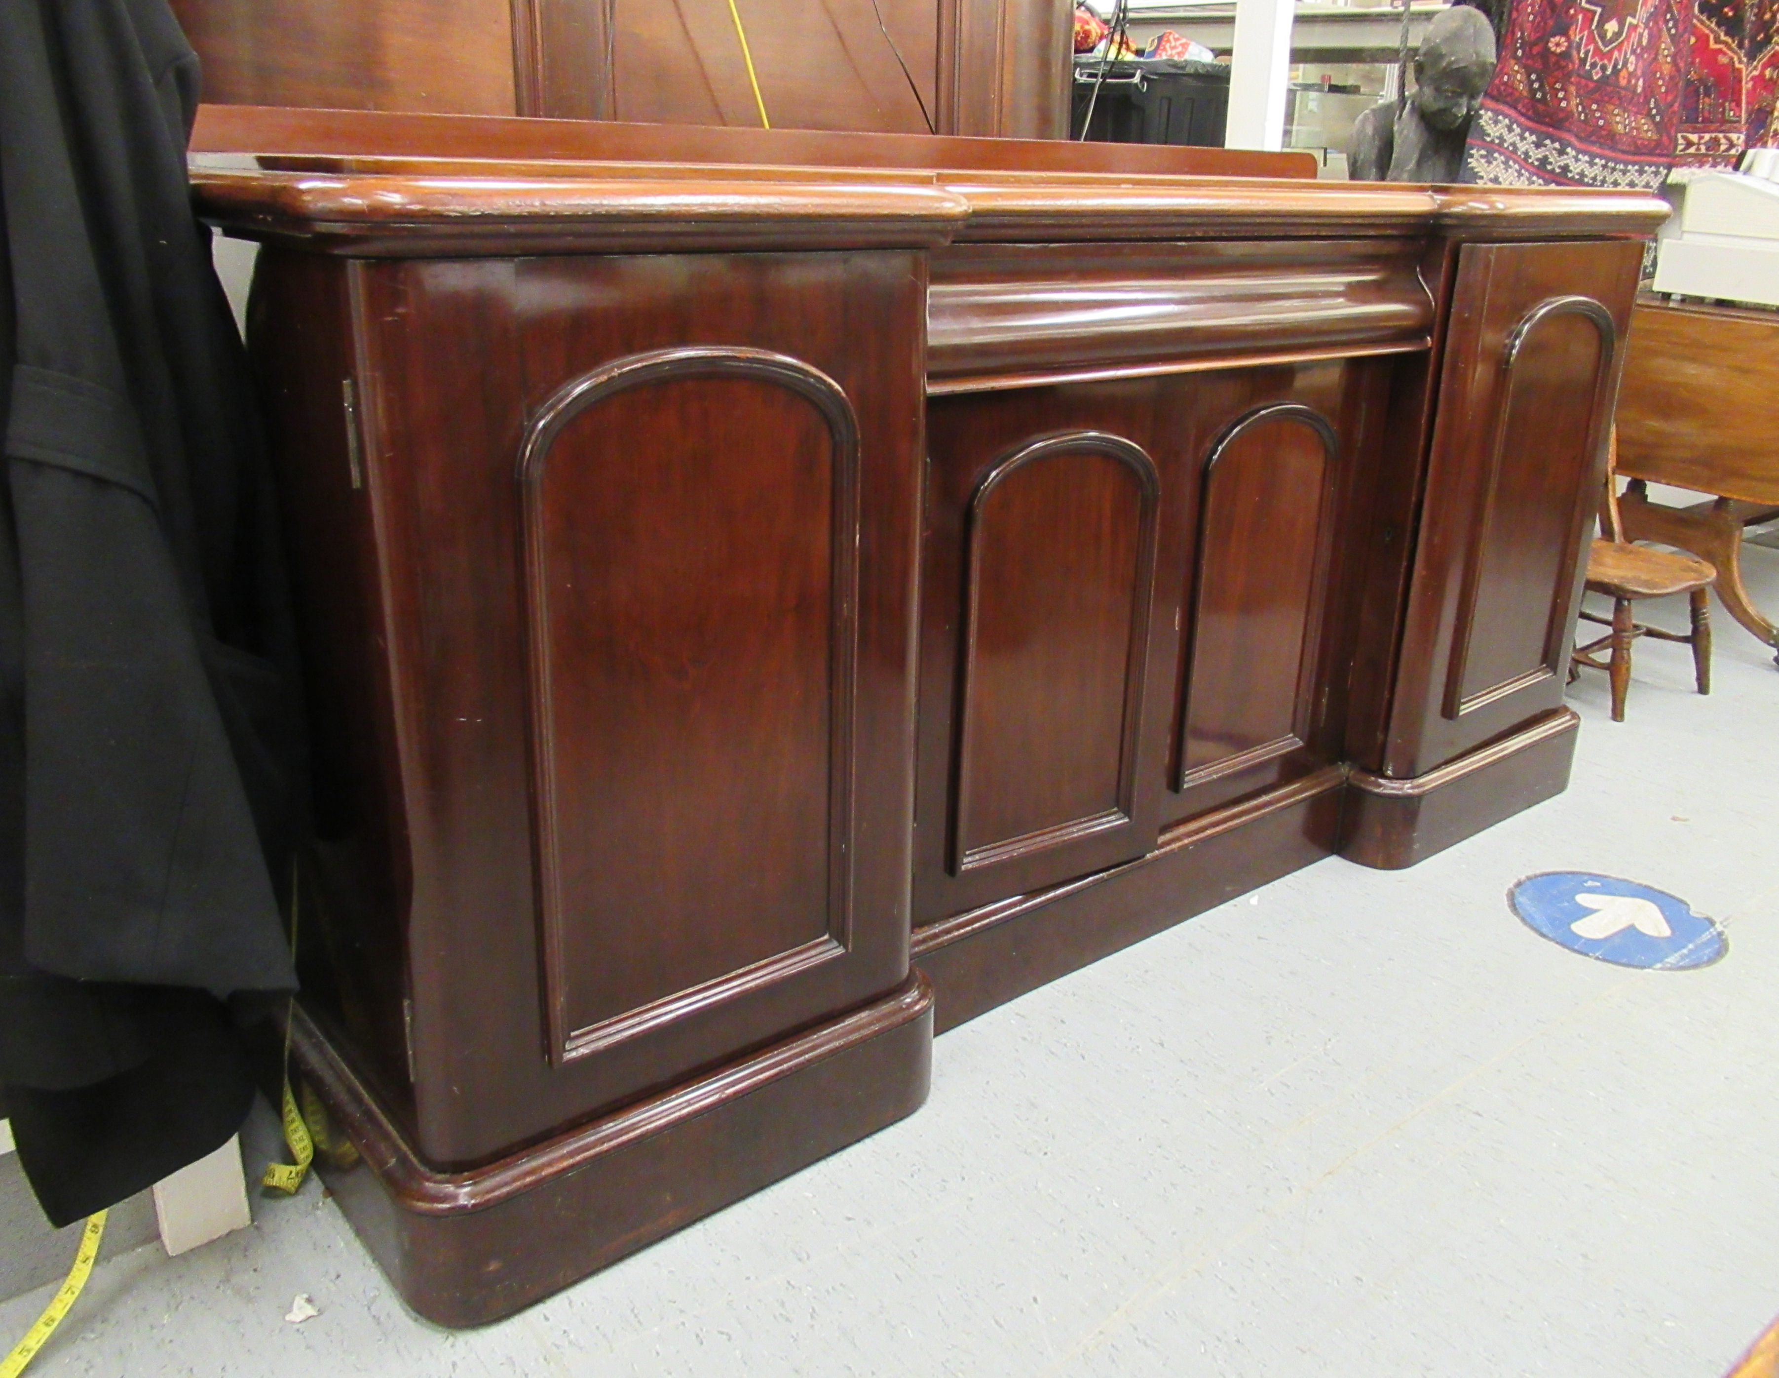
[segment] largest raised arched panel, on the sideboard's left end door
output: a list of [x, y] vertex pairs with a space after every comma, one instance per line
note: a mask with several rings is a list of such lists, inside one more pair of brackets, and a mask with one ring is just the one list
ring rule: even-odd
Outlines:
[[[571, 1059], [850, 947], [857, 418], [785, 354], [660, 349], [562, 386], [519, 482], [543, 976]], [[674, 522], [701, 539], [664, 541]]]

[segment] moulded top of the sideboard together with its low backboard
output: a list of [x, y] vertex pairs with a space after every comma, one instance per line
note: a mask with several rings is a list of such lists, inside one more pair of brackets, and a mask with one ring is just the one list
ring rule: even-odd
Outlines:
[[1642, 194], [1316, 182], [1297, 155], [1067, 141], [205, 107], [192, 153], [206, 219], [359, 256], [1642, 237], [1667, 215]]

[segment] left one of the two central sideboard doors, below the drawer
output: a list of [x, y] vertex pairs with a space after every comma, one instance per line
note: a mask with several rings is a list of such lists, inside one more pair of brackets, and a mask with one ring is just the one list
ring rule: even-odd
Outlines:
[[1023, 401], [930, 408], [916, 922], [1156, 837], [1162, 475], [1117, 411]]

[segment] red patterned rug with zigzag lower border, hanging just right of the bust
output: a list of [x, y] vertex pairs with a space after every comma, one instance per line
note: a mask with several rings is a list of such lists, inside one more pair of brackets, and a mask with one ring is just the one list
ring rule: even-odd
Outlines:
[[[1469, 128], [1464, 180], [1660, 187], [1674, 164], [1692, 32], [1694, 0], [1517, 0]], [[1779, 61], [1768, 69], [1770, 93]]]

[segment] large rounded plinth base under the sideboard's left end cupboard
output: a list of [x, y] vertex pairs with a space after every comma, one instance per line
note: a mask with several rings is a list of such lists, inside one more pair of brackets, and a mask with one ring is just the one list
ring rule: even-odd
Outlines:
[[[932, 988], [898, 990], [738, 1063], [470, 1171], [422, 1163], [299, 1008], [317, 1163], [397, 1291], [471, 1326], [568, 1287], [900, 1120], [927, 1098]], [[308, 1118], [318, 1120], [313, 1102]]]

